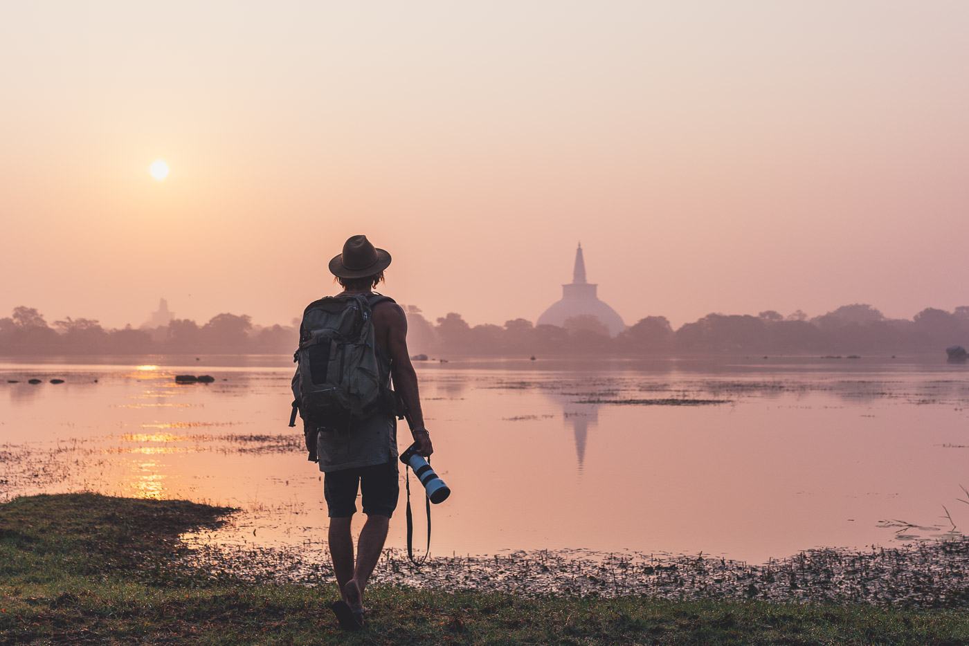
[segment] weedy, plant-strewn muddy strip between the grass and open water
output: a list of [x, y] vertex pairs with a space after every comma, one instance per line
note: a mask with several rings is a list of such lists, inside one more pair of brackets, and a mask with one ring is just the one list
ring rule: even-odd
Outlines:
[[[221, 550], [192, 547], [186, 563], [218, 577], [232, 569], [251, 583], [318, 585], [331, 579], [326, 548]], [[422, 550], [416, 558], [420, 560]], [[866, 550], [819, 548], [764, 564], [700, 555], [510, 551], [506, 555], [434, 556], [422, 566], [407, 551], [385, 548], [375, 585], [450, 589], [530, 597], [625, 596], [666, 600], [903, 604], [969, 608], [969, 538], [931, 539]]]

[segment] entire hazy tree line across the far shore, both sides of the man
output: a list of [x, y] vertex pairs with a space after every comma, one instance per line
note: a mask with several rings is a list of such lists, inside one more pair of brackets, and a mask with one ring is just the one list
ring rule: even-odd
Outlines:
[[[412, 354], [444, 355], [648, 355], [648, 354], [859, 354], [939, 352], [969, 344], [969, 306], [953, 312], [926, 308], [909, 321], [888, 319], [871, 305], [844, 305], [808, 318], [767, 310], [752, 315], [708, 314], [673, 329], [649, 316], [610, 337], [592, 316], [563, 326], [515, 319], [504, 325], [470, 325], [451, 313], [435, 323], [405, 306]], [[175, 319], [155, 328], [106, 329], [98, 321], [48, 324], [35, 308], [16, 307], [0, 319], [0, 354], [290, 354], [297, 325], [254, 325], [248, 315], [219, 314], [207, 323]]]

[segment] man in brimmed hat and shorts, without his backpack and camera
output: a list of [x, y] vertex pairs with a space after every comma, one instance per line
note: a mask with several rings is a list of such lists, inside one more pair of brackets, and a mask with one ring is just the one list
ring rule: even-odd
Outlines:
[[[381, 300], [373, 292], [384, 281], [384, 269], [390, 264], [389, 253], [376, 249], [365, 235], [354, 235], [343, 245], [343, 253], [329, 261], [329, 271], [343, 288], [338, 295], [362, 294], [373, 302], [381, 374], [392, 376], [397, 395], [414, 424], [418, 452], [428, 457], [434, 449], [424, 428], [417, 373], [407, 352], [407, 319], [399, 305], [391, 299]], [[317, 433], [317, 454], [320, 471], [325, 474], [329, 554], [342, 597], [330, 607], [343, 628], [359, 629], [363, 625], [363, 591], [380, 559], [391, 513], [397, 506], [396, 418], [388, 411], [356, 421], [349, 432], [322, 430]], [[358, 486], [367, 519], [360, 531], [355, 562], [350, 524], [357, 511]]]

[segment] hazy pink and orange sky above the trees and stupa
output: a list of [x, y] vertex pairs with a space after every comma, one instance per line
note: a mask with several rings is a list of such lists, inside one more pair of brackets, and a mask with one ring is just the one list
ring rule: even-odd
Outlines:
[[[969, 2], [8, 2], [0, 316], [969, 304]], [[164, 159], [171, 174], [153, 179]]]

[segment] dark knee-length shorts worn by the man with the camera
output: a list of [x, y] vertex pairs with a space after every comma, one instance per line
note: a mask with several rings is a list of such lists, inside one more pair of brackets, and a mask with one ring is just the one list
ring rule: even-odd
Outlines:
[[330, 518], [347, 518], [357, 512], [357, 489], [363, 502], [363, 513], [391, 517], [397, 508], [400, 484], [397, 459], [386, 464], [328, 471], [323, 475], [323, 495], [327, 498]]

